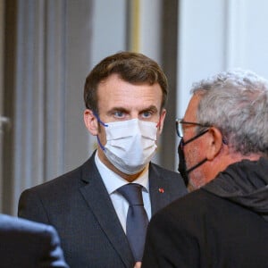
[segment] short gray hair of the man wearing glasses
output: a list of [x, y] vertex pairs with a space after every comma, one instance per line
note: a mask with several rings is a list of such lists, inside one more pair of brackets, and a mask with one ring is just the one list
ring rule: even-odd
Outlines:
[[197, 121], [218, 128], [235, 152], [268, 155], [268, 81], [252, 71], [224, 71], [193, 84]]

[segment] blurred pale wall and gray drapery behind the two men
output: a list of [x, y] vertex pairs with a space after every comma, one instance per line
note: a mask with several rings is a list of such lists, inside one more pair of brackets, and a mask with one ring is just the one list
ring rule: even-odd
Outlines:
[[174, 121], [191, 84], [245, 68], [268, 78], [266, 0], [0, 0], [0, 211], [88, 159], [83, 85], [101, 59], [147, 54], [170, 96], [155, 162], [177, 170]]

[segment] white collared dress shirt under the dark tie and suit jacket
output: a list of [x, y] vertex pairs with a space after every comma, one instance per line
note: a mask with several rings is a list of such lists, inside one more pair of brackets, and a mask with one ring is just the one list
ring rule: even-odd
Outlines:
[[[95, 155], [95, 163], [98, 172], [100, 173], [102, 180], [105, 183], [105, 188], [112, 200], [113, 207], [116, 211], [116, 214], [121, 222], [122, 229], [126, 232], [126, 222], [127, 222], [127, 214], [129, 210], [128, 201], [121, 196], [117, 192], [117, 189], [121, 186], [130, 183], [127, 180], [122, 179], [118, 174], [114, 173], [110, 169], [108, 169], [104, 163], [101, 162], [99, 157], [97, 156], [97, 152]], [[149, 196], [149, 165], [147, 168], [138, 176], [137, 180], [132, 181], [133, 183], [138, 183], [142, 186], [142, 198], [145, 210], [148, 215], [148, 219], [151, 219], [151, 201]]]

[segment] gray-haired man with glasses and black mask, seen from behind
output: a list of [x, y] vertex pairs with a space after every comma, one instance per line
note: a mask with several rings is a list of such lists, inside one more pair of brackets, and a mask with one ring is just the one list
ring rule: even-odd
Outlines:
[[192, 93], [177, 130], [196, 190], [155, 214], [142, 267], [267, 268], [268, 81], [228, 71]]

